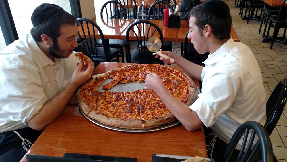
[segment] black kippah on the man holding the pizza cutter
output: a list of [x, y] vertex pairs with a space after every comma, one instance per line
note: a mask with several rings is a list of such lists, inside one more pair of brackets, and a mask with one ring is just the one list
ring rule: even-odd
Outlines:
[[228, 5], [221, 0], [207, 0], [203, 3], [203, 8], [210, 14], [220, 18], [230, 16]]

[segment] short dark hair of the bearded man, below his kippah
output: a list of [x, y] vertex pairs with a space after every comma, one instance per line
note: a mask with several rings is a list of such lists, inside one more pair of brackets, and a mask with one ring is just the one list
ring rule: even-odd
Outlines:
[[76, 18], [64, 11], [51, 20], [41, 24], [38, 27], [33, 27], [31, 29], [31, 35], [37, 42], [42, 42], [41, 35], [48, 35], [53, 41], [57, 40], [57, 38], [61, 35], [60, 29], [63, 25], [75, 25], [77, 23]]

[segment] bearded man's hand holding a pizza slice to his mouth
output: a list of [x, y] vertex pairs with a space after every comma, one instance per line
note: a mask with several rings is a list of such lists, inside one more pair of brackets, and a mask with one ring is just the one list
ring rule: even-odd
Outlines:
[[72, 78], [71, 78], [71, 82], [73, 84], [80, 86], [85, 81], [91, 78], [92, 74], [94, 73], [94, 64], [93, 66], [91, 66], [91, 64], [87, 64], [87, 65], [88, 66], [86, 67], [86, 70], [83, 71], [82, 69], [83, 69], [84, 63], [82, 61], [78, 63], [78, 66], [75, 69], [72, 75]]

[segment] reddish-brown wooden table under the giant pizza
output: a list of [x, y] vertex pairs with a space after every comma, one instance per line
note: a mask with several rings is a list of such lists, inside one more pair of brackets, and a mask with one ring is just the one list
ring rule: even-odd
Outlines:
[[[95, 74], [126, 65], [129, 64], [101, 62]], [[67, 106], [27, 152], [57, 157], [65, 153], [134, 157], [138, 162], [150, 162], [152, 154], [207, 157], [203, 128], [189, 132], [179, 124], [145, 133], [115, 131], [92, 123], [77, 106]]]

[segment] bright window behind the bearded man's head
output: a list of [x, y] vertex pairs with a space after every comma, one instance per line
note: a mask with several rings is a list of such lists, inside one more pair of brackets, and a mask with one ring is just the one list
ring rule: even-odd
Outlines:
[[42, 3], [53, 3], [61, 6], [65, 11], [81, 17], [79, 13], [79, 0], [0, 0], [0, 51], [6, 47], [6, 44], [30, 33], [32, 28], [31, 15], [36, 7]]

